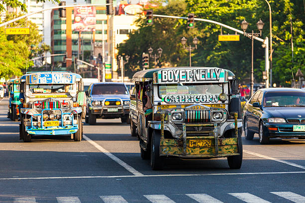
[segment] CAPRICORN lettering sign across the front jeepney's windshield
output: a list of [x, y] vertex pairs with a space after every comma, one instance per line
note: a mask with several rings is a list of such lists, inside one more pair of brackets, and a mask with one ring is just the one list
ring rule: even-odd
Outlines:
[[219, 95], [164, 95], [162, 104], [168, 103], [217, 103]]

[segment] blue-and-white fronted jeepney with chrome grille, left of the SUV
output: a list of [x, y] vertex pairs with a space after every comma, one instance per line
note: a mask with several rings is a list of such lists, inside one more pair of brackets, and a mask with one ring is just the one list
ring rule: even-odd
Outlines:
[[80, 75], [69, 72], [27, 73], [20, 79], [20, 139], [33, 135], [70, 134], [82, 139], [84, 84]]

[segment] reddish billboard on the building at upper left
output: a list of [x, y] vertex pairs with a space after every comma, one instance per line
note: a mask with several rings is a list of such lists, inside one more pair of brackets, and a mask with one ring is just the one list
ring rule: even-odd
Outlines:
[[92, 31], [96, 25], [95, 6], [74, 7], [74, 21], [72, 30], [74, 31]]

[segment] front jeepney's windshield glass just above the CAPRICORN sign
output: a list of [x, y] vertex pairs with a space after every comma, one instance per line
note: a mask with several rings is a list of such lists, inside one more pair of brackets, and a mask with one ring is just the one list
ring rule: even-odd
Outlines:
[[222, 93], [222, 84], [164, 84], [159, 85], [159, 97], [165, 95], [219, 95]]

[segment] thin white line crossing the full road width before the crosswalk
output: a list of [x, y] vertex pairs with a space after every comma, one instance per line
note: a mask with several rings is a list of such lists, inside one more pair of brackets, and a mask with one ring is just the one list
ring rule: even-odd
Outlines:
[[64, 176], [64, 177], [36, 177], [36, 178], [0, 178], [7, 180], [41, 180], [41, 179], [82, 179], [82, 178], [142, 178], [142, 177], [175, 177], [175, 176], [228, 176], [228, 175], [269, 175], [269, 174], [303, 174], [305, 171], [291, 172], [264, 172], [264, 173], [219, 173], [219, 174], [162, 174], [162, 175], [138, 175], [138, 176]]

